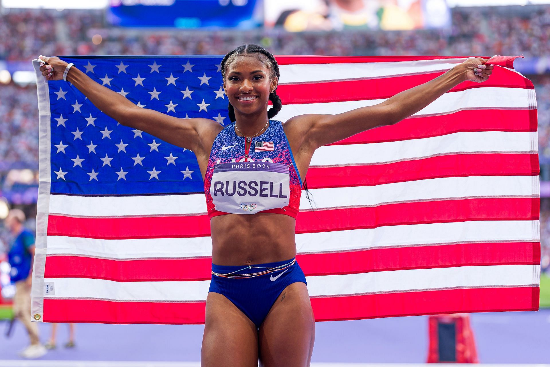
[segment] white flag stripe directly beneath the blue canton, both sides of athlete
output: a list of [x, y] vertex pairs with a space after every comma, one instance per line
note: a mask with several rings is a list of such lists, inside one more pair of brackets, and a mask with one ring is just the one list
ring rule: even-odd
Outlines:
[[[443, 177], [374, 186], [310, 189], [316, 208], [377, 205], [443, 198], [480, 196], [531, 196], [538, 194], [533, 182], [538, 176]], [[199, 202], [195, 207], [185, 200]], [[383, 201], [382, 201], [383, 200]], [[205, 213], [204, 194], [159, 196], [51, 195], [52, 213], [74, 216], [153, 216]], [[300, 209], [310, 209], [305, 195]], [[194, 210], [194, 211], [192, 211]], [[163, 214], [164, 213], [164, 214]]]

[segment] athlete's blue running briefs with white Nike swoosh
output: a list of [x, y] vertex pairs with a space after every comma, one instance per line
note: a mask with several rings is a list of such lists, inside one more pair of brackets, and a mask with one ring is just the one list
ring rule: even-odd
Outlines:
[[[251, 274], [257, 273], [263, 269], [259, 267], [277, 267], [288, 264], [293, 259], [268, 262], [267, 264], [254, 264], [252, 269], [244, 269], [235, 274]], [[245, 265], [246, 266], [246, 265]], [[245, 268], [239, 266], [223, 266], [212, 264], [212, 271], [221, 274], [227, 274]], [[283, 292], [289, 284], [295, 282], [304, 282], [307, 285], [304, 272], [301, 270], [298, 262], [288, 267], [285, 270], [275, 270], [264, 275], [252, 278], [226, 278], [212, 274], [210, 289], [208, 292], [216, 292], [227, 297], [237, 308], [259, 328], [267, 314], [271, 310], [271, 306], [275, 303], [279, 294]]]

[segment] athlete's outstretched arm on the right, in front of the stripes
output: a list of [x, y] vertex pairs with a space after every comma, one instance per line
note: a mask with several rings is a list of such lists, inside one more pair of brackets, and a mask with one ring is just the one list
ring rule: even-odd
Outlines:
[[[378, 105], [356, 108], [339, 114], [301, 115], [289, 119], [287, 123], [301, 130], [302, 143], [317, 149], [368, 129], [395, 124], [420, 111], [463, 81], [481, 83], [487, 80], [493, 67], [485, 65], [486, 61], [487, 59], [480, 57], [468, 58], [443, 75], [400, 92]], [[478, 65], [481, 67], [478, 68]], [[293, 120], [296, 123], [293, 123]]]

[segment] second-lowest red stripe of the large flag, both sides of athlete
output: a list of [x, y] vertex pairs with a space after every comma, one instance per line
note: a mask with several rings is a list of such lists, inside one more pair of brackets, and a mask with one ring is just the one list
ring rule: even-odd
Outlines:
[[[461, 243], [296, 256], [306, 276], [478, 265], [540, 264], [540, 242]], [[114, 260], [47, 256], [45, 278], [94, 278], [117, 282], [204, 281], [211, 258]], [[144, 271], [146, 269], [146, 271]]]

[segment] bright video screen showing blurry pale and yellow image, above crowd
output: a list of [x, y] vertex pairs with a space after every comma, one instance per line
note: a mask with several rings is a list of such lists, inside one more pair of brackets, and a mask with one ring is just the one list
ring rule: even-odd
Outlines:
[[265, 26], [287, 31], [408, 30], [450, 25], [445, 0], [265, 0]]

